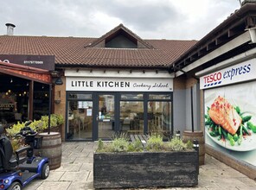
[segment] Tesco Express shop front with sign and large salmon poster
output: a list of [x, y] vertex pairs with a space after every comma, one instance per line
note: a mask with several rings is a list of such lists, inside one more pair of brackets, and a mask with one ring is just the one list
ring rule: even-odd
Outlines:
[[241, 172], [249, 176], [255, 176], [255, 170], [250, 171], [256, 167], [255, 66], [255, 58], [240, 61], [200, 79], [208, 151], [217, 150], [217, 155], [242, 163], [247, 171]]

